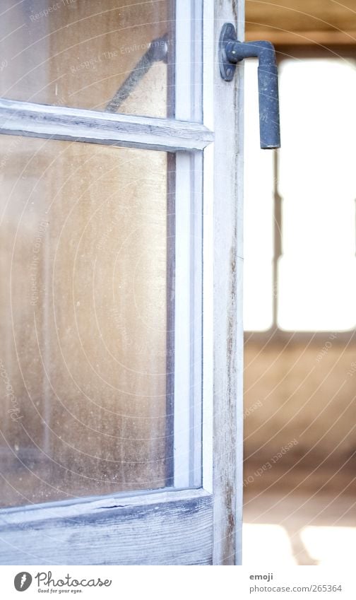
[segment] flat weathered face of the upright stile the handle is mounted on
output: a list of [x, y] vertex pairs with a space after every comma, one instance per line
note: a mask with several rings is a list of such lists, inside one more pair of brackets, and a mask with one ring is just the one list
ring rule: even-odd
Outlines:
[[242, 197], [243, 66], [220, 76], [224, 23], [244, 28], [242, 0], [215, 2], [214, 159], [214, 558], [241, 563], [242, 527]]

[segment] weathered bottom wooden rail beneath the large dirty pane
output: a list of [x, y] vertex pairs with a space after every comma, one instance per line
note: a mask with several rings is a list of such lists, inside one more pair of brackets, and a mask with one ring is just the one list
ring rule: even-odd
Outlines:
[[0, 512], [1, 565], [210, 565], [212, 497], [166, 491]]

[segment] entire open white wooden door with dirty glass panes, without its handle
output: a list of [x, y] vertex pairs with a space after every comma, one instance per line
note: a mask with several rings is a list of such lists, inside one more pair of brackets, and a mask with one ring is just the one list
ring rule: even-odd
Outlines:
[[239, 564], [242, 2], [1, 9], [1, 563]]

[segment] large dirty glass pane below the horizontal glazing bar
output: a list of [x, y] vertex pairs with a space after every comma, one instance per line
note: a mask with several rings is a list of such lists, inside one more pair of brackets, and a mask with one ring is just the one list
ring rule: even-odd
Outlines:
[[167, 483], [168, 161], [0, 136], [3, 506]]

